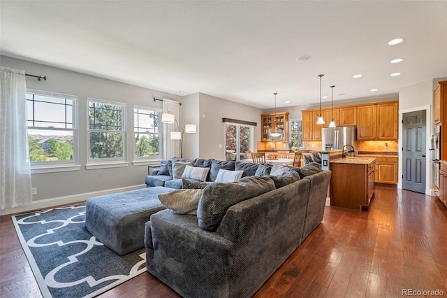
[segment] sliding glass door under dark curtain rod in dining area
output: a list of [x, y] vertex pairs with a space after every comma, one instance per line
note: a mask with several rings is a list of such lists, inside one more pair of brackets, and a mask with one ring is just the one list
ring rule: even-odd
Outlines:
[[237, 160], [245, 158], [245, 152], [251, 151], [253, 144], [253, 128], [248, 125], [225, 123], [225, 159]]

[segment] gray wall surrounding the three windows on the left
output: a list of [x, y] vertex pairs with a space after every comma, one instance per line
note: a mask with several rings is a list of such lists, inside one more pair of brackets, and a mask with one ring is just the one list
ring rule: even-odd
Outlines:
[[[129, 132], [133, 130], [133, 104], [161, 108], [161, 101], [154, 102], [152, 99], [154, 96], [175, 100], [179, 100], [181, 97], [6, 56], [0, 57], [0, 63], [1, 66], [22, 69], [26, 73], [47, 76], [46, 81], [27, 77], [28, 88], [78, 96], [81, 168], [79, 171], [33, 174], [31, 177], [32, 186], [37, 187], [37, 194], [33, 196], [34, 202], [46, 201], [47, 206], [54, 206], [65, 204], [65, 202], [80, 201], [85, 196], [94, 195], [103, 190], [145, 186], [147, 166], [134, 166], [132, 164], [134, 146], [132, 134], [127, 138], [129, 166], [94, 170], [85, 168], [87, 163], [87, 97], [127, 103], [127, 127]], [[86, 195], [82, 196], [80, 194]], [[59, 201], [52, 202], [52, 200]], [[39, 206], [38, 208], [43, 207], [45, 206]]]

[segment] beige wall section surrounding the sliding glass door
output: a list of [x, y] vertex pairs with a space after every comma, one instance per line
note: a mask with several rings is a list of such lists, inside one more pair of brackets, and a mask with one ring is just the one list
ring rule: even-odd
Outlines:
[[224, 159], [225, 149], [219, 148], [219, 144], [225, 146], [222, 118], [256, 122], [258, 124], [254, 129], [254, 150], [256, 150], [257, 142], [261, 141], [261, 128], [259, 127], [261, 111], [260, 108], [199, 93], [200, 136], [198, 156]]

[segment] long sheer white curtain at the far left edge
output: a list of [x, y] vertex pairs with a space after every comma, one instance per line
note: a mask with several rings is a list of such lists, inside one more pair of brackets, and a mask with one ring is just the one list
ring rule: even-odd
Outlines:
[[25, 72], [1, 66], [0, 85], [0, 201], [3, 210], [31, 205], [32, 195]]

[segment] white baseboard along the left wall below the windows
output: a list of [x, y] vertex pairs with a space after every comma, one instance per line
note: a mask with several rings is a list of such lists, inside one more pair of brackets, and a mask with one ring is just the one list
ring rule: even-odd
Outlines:
[[115, 192], [126, 192], [128, 190], [138, 190], [140, 188], [145, 188], [145, 184], [140, 185], [132, 185], [126, 187], [118, 187], [112, 188], [110, 190], [98, 190], [96, 192], [85, 192], [82, 194], [72, 194], [64, 197], [55, 197], [51, 199], [42, 199], [38, 201], [33, 201], [30, 206], [21, 206], [17, 208], [6, 208], [1, 211], [1, 215], [14, 214], [14, 213], [23, 213], [27, 211], [34, 211], [39, 209], [47, 209], [52, 206], [73, 204], [82, 201], [86, 201], [91, 197], [102, 196], [104, 194], [113, 194]]

